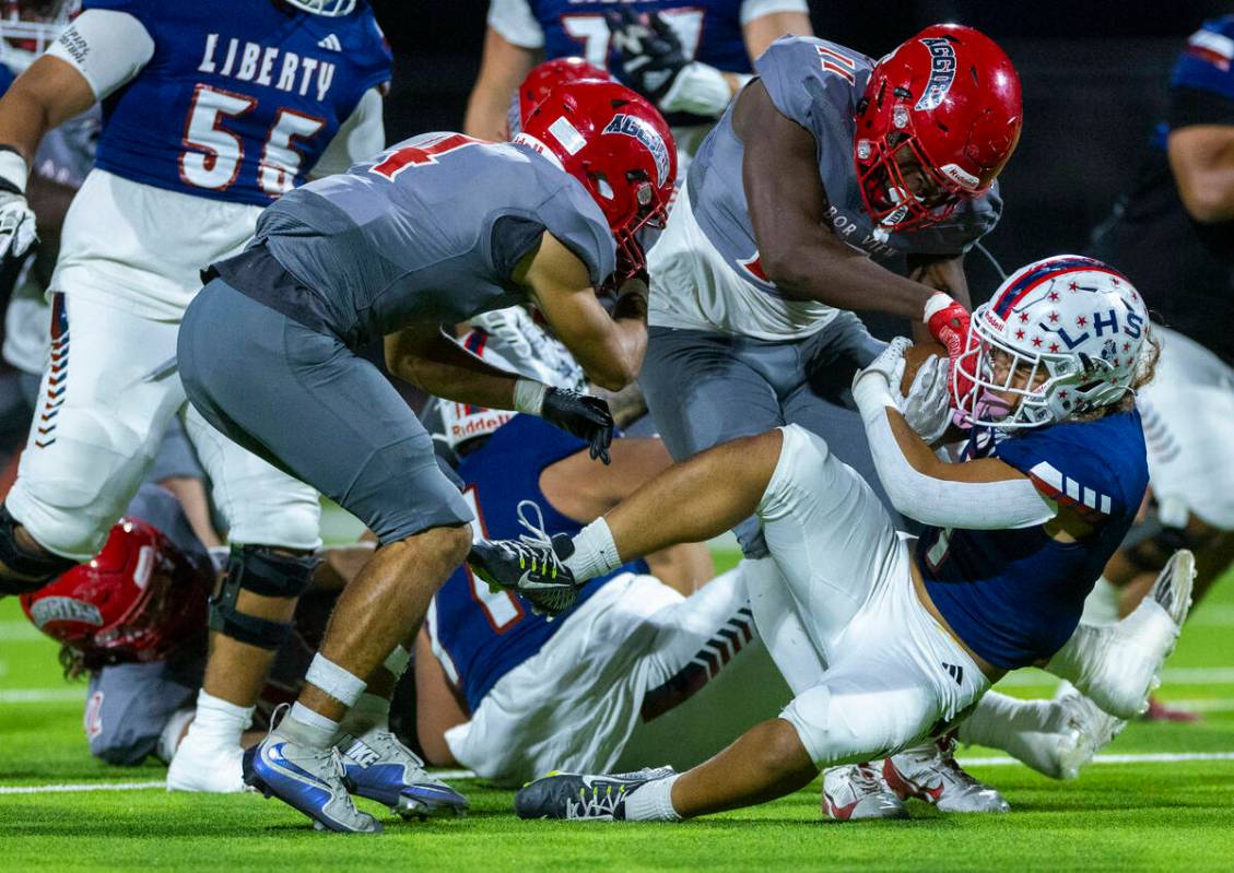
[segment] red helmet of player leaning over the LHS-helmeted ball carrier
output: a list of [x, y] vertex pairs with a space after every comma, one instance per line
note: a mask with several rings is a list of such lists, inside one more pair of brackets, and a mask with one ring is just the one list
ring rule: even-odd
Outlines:
[[[992, 39], [961, 25], [927, 27], [875, 64], [858, 104], [853, 157], [870, 216], [902, 231], [985, 194], [1023, 116], [1019, 76]], [[917, 185], [906, 178], [913, 164]]]

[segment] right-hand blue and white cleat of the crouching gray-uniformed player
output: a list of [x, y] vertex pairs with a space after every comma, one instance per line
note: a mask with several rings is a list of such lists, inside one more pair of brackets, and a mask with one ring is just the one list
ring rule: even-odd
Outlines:
[[385, 804], [405, 819], [466, 815], [466, 798], [424, 772], [424, 762], [390, 731], [344, 735], [336, 748], [353, 794]]

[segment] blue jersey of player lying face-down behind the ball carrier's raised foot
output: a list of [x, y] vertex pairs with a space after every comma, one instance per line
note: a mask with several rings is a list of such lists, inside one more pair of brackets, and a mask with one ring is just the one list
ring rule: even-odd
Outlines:
[[[586, 448], [582, 440], [534, 416], [515, 416], [499, 428], [458, 469], [466, 483], [464, 497], [481, 533], [489, 539], [511, 539], [524, 533], [516, 513], [520, 501], [534, 501], [540, 507], [550, 536], [579, 533], [582, 525], [559, 513], [544, 497], [539, 477], [545, 467]], [[579, 592], [578, 603], [553, 621], [533, 614], [512, 593], [491, 593], [466, 565], [454, 571], [433, 598], [429, 621], [471, 711], [497, 679], [536, 655], [605, 582], [631, 571], [645, 572], [645, 565], [626, 565], [591, 580]]]

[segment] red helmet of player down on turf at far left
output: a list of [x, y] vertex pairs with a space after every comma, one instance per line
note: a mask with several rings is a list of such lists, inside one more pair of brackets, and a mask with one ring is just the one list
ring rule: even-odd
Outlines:
[[123, 518], [93, 560], [21, 596], [35, 626], [89, 661], [157, 661], [206, 626], [209, 561], [163, 533]]

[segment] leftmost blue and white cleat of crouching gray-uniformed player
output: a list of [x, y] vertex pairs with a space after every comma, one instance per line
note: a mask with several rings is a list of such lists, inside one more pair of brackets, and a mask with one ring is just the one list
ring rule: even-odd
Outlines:
[[317, 830], [380, 834], [381, 822], [355, 809], [337, 748], [310, 748], [269, 734], [244, 752], [244, 782], [299, 809]]

